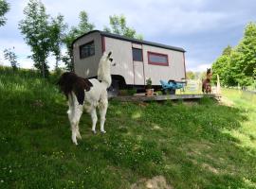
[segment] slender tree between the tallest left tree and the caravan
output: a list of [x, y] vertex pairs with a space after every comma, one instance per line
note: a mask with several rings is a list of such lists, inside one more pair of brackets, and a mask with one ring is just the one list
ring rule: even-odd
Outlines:
[[53, 53], [56, 59], [55, 68], [59, 67], [59, 60], [62, 59], [61, 48], [64, 44], [64, 31], [67, 25], [64, 24], [64, 16], [58, 15], [56, 18], [52, 18], [49, 26], [50, 30], [50, 51]]

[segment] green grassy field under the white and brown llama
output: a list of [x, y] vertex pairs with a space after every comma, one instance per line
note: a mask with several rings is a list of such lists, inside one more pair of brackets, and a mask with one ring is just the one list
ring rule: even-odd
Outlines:
[[173, 188], [256, 188], [255, 94], [223, 94], [229, 106], [112, 100], [107, 133], [93, 135], [84, 113], [74, 146], [56, 86], [0, 68], [0, 188], [124, 189], [155, 176]]

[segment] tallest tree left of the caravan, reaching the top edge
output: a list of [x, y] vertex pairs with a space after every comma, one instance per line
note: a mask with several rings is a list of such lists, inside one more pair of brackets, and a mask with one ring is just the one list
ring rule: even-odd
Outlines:
[[51, 50], [49, 16], [40, 0], [29, 0], [24, 14], [26, 18], [19, 23], [19, 28], [31, 48], [32, 55], [29, 57], [34, 60], [34, 66], [40, 70], [43, 77], [47, 77], [46, 59]]

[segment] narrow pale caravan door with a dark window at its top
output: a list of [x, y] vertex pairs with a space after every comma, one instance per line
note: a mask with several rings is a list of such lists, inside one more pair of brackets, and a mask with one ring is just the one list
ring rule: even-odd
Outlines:
[[135, 85], [145, 85], [144, 62], [142, 44], [133, 43], [133, 66]]

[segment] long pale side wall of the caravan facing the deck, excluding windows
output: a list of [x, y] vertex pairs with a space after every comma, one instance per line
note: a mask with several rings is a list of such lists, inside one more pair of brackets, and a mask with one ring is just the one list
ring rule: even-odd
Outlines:
[[[146, 44], [136, 44], [119, 39], [105, 38], [105, 50], [113, 51], [113, 58], [117, 66], [112, 67], [112, 75], [124, 77], [126, 84], [144, 85], [148, 77], [152, 78], [153, 85], [160, 85], [159, 80], [168, 81], [174, 79], [182, 81], [185, 78], [183, 52], [150, 46]], [[132, 47], [142, 48], [143, 64], [139, 61], [133, 61]], [[153, 65], [148, 63], [148, 51], [167, 54], [169, 66]], [[145, 73], [145, 80], [144, 80]]]

